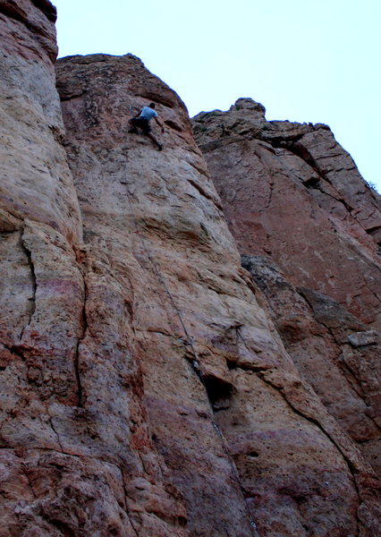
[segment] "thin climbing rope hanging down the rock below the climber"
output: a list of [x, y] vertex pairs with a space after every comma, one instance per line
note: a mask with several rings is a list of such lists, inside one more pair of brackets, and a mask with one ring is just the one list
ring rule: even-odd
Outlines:
[[[162, 276], [159, 268], [157, 267], [156, 261], [152, 258], [150, 252], [148, 251], [148, 247], [147, 247], [147, 245], [146, 245], [146, 243], [144, 241], [144, 238], [143, 238], [142, 234], [140, 234], [140, 229], [139, 229], [139, 226], [138, 226], [138, 219], [137, 219], [137, 217], [135, 215], [135, 211], [133, 209], [133, 205], [132, 205], [132, 201], [131, 201], [131, 194], [130, 194], [130, 192], [128, 190], [127, 177], [126, 177], [125, 184], [126, 184], [126, 187], [127, 187], [127, 200], [129, 202], [129, 205], [130, 205], [131, 215], [133, 217], [133, 224], [134, 224], [134, 227], [135, 227], [135, 230], [136, 230], [136, 234], [138, 235], [138, 237], [140, 239], [140, 243], [141, 243], [144, 251], [146, 252], [147, 258], [148, 258], [149, 262], [151, 263], [152, 268], [154, 269], [155, 275], [157, 277], [157, 281], [164, 287], [165, 293], [168, 295], [168, 298], [169, 298], [169, 300], [170, 300], [170, 302], [171, 302], [171, 304], [172, 304], [172, 306], [174, 308], [174, 311], [176, 312], [176, 315], [180, 320], [180, 323], [182, 325], [182, 329], [183, 329], [183, 332], [184, 332], [184, 335], [185, 335], [185, 338], [182, 339], [182, 344], [184, 346], [186, 346], [186, 347], [189, 346], [190, 349], [191, 349], [191, 354], [193, 355], [193, 359], [189, 361], [190, 365], [191, 365], [193, 371], [199, 377], [199, 380], [202, 383], [203, 387], [205, 388], [205, 391], [206, 391], [206, 394], [207, 394], [207, 400], [209, 402], [211, 411], [214, 414], [213, 402], [210, 399], [209, 391], [207, 389], [207, 383], [205, 381], [204, 375], [203, 375], [201, 367], [200, 367], [199, 355], [197, 354], [197, 351], [196, 351], [196, 348], [195, 348], [195, 345], [194, 345], [194, 337], [190, 336], [190, 333], [188, 332], [188, 329], [186, 328], [185, 323], [182, 320], [182, 313], [179, 310], [179, 308], [177, 307], [177, 304], [174, 302], [174, 297], [171, 294], [171, 292], [169, 291], [168, 287], [166, 286], [165, 279]], [[230, 464], [230, 466], [232, 468], [232, 473], [233, 473], [234, 480], [237, 483], [239, 490], [241, 491], [241, 496], [242, 496], [242, 499], [243, 499], [243, 502], [244, 502], [244, 505], [245, 505], [245, 509], [246, 509], [246, 513], [247, 513], [246, 516], [247, 516], [247, 519], [248, 519], [248, 521], [250, 523], [251, 534], [252, 534], [253, 537], [260, 537], [259, 533], [258, 533], [258, 529], [257, 529], [257, 524], [255, 523], [254, 518], [251, 515], [251, 510], [250, 510], [250, 506], [249, 506], [249, 503], [248, 503], [248, 499], [246, 498], [245, 492], [243, 490], [240, 475], [239, 475], [237, 467], [236, 467], [236, 465], [235, 465], [235, 463], [233, 461], [233, 456], [230, 453], [227, 441], [224, 438], [224, 434], [223, 434], [221, 428], [219, 427], [218, 423], [216, 423], [213, 420], [212, 425], [213, 425], [213, 428], [216, 430], [216, 434], [217, 434], [218, 438], [220, 439], [221, 445], [222, 445], [222, 447], [224, 449], [225, 456], [226, 456], [227, 460], [229, 461], [229, 464]]]

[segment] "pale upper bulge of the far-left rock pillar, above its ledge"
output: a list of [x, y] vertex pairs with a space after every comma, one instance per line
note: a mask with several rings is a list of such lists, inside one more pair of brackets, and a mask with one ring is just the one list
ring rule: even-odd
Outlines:
[[0, 0], [0, 209], [80, 238], [80, 211], [61, 145], [55, 7]]

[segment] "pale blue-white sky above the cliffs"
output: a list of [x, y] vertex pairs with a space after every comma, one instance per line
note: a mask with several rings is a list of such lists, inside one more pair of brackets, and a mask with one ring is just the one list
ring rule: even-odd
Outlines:
[[380, 0], [53, 0], [60, 57], [137, 55], [190, 112], [325, 123], [381, 192]]

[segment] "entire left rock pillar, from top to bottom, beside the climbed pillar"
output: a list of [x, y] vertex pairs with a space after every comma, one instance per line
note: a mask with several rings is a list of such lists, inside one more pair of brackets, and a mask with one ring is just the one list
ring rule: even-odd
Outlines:
[[[152, 485], [141, 479], [140, 456], [149, 446], [144, 425], [138, 439], [133, 433], [134, 422], [145, 422], [141, 375], [131, 361], [129, 329], [117, 326], [116, 299], [115, 310], [112, 303], [109, 308], [114, 331], [122, 335], [107, 345], [117, 367], [113, 357], [102, 362], [92, 388], [100, 401], [99, 379], [105, 379], [106, 401], [92, 406], [94, 414], [82, 405], [79, 355], [87, 290], [80, 209], [61, 144], [54, 21], [55, 8], [47, 1], [0, 2], [0, 533], [134, 535], [136, 503], [148, 533], [169, 525], [170, 534], [180, 536], [180, 495], [173, 487], [163, 489], [159, 465], [152, 470], [152, 463]], [[97, 278], [99, 294], [105, 286]], [[117, 296], [117, 289], [112, 292]], [[106, 345], [106, 327], [98, 337], [92, 370], [98, 345]], [[119, 410], [113, 413], [115, 376], [123, 382], [122, 417]], [[140, 480], [136, 487], [134, 479]], [[139, 498], [129, 498], [131, 487]], [[157, 513], [169, 522], [160, 522]]]

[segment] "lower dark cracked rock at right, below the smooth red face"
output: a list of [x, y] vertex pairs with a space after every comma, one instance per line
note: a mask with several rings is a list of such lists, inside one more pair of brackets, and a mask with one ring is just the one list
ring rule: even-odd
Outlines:
[[242, 256], [287, 352], [381, 474], [380, 337], [332, 298], [289, 284], [268, 258]]

